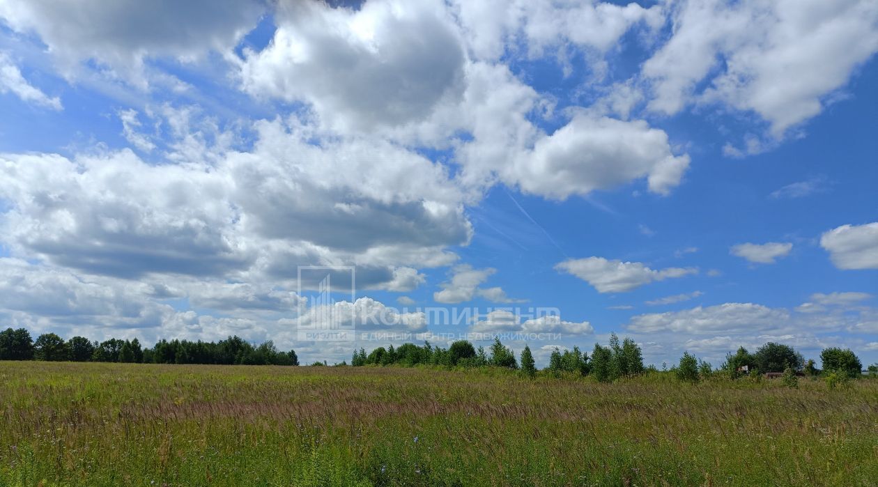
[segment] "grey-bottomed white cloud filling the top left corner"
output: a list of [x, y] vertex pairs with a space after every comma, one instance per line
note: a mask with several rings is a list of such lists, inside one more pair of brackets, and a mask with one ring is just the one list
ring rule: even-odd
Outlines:
[[210, 50], [227, 54], [263, 11], [263, 3], [248, 0], [0, 3], [0, 18], [16, 32], [35, 32], [63, 74], [74, 75], [81, 62], [94, 60], [141, 88], [148, 86], [146, 59], [193, 61]]

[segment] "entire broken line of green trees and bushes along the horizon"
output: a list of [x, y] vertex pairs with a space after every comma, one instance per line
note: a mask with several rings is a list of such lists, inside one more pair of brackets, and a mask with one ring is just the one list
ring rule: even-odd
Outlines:
[[[738, 379], [758, 377], [762, 373], [783, 373], [784, 380], [795, 383], [795, 376], [826, 376], [830, 382], [843, 381], [860, 376], [862, 363], [847, 348], [829, 347], [820, 354], [823, 370], [817, 369], [813, 360], [804, 360], [802, 354], [793, 347], [768, 342], [750, 353], [739, 347], [735, 354], [726, 355], [719, 369], [709, 362], [698, 360], [688, 352], [680, 357], [673, 372], [681, 381], [698, 382], [718, 373]], [[254, 345], [237, 336], [226, 340], [190, 341], [160, 340], [153, 347], [141, 347], [140, 341], [110, 339], [98, 342], [76, 336], [63, 340], [55, 333], [43, 333], [37, 340], [25, 328], [7, 328], [0, 332], [0, 360], [39, 360], [73, 362], [132, 362], [132, 363], [192, 363], [228, 365], [299, 365], [299, 357], [294, 350], [277, 350], [271, 340]], [[326, 365], [314, 362], [313, 365]], [[336, 365], [348, 365], [342, 362]], [[422, 346], [405, 343], [399, 347], [377, 347], [368, 354], [365, 349], [356, 350], [350, 365], [362, 367], [399, 365], [414, 367], [432, 365], [442, 367], [498, 367], [520, 370], [526, 376], [536, 376], [537, 369], [533, 353], [525, 346], [516, 360], [515, 352], [495, 338], [488, 347], [473, 347], [467, 340], [457, 340], [448, 348], [431, 345], [428, 341]], [[878, 364], [869, 366], [878, 373]], [[594, 344], [589, 356], [579, 347], [555, 348], [549, 357], [549, 365], [543, 373], [549, 376], [592, 376], [599, 382], [613, 382], [624, 376], [636, 376], [646, 371], [658, 371], [653, 366], [644, 367], [643, 352], [630, 338], [619, 340], [615, 333], [608, 345]]]

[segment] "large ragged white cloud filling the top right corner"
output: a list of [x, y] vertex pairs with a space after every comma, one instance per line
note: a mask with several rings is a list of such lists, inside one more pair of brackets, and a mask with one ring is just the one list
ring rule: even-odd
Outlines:
[[672, 37], [644, 63], [649, 107], [673, 114], [722, 102], [755, 111], [780, 138], [822, 111], [825, 97], [878, 50], [876, 20], [870, 0], [681, 3]]

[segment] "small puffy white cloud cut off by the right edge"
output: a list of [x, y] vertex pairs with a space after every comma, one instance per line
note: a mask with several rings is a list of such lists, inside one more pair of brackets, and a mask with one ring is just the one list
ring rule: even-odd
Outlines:
[[843, 225], [820, 237], [838, 269], [878, 269], [878, 222]]

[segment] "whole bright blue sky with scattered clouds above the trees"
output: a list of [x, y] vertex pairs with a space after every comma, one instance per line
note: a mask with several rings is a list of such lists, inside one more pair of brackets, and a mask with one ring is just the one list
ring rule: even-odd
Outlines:
[[332, 5], [0, 5], [0, 325], [878, 362], [873, 2]]

